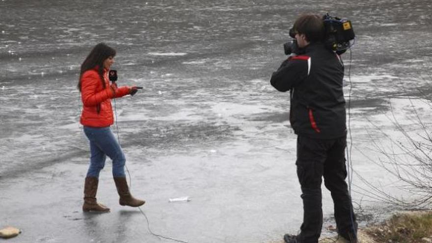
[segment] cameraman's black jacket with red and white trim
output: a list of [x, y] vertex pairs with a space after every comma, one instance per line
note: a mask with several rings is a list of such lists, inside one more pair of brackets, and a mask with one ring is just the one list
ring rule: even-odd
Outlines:
[[301, 55], [282, 62], [270, 83], [291, 91], [290, 123], [297, 135], [332, 139], [347, 134], [343, 80], [340, 57], [311, 43]]

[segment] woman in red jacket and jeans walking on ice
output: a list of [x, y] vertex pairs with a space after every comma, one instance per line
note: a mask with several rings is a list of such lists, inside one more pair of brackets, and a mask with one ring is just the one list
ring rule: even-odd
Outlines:
[[120, 195], [119, 203], [124, 206], [139, 207], [145, 203], [135, 199], [126, 181], [124, 170], [126, 158], [111, 126], [114, 122], [111, 99], [135, 94], [135, 86], [117, 87], [109, 84], [108, 70], [114, 63], [115, 50], [104, 43], [97, 44], [81, 64], [78, 89], [81, 91], [81, 124], [90, 141], [90, 166], [84, 183], [84, 204], [82, 211], [109, 212], [109, 208], [97, 203], [99, 173], [104, 168], [107, 156], [112, 160], [112, 175]]

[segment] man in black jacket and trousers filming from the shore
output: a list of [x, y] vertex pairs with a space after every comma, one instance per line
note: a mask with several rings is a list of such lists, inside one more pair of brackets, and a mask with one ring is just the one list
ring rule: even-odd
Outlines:
[[344, 66], [324, 45], [323, 19], [301, 15], [290, 35], [293, 54], [282, 62], [270, 83], [290, 90], [290, 123], [297, 134], [297, 176], [303, 200], [303, 223], [298, 235], [284, 235], [286, 243], [318, 243], [323, 226], [321, 183], [331, 192], [340, 236], [357, 243], [357, 223], [345, 182], [347, 128], [343, 93]]

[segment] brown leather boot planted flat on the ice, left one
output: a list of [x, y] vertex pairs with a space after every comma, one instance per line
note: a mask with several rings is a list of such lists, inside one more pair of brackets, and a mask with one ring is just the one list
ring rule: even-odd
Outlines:
[[99, 180], [96, 177], [86, 177], [84, 183], [84, 204], [82, 211], [84, 212], [109, 212], [109, 208], [96, 201], [96, 192], [98, 191]]

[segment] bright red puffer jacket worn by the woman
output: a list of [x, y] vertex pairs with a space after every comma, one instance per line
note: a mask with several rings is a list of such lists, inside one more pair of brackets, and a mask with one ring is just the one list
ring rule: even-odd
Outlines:
[[104, 70], [105, 89], [97, 69], [87, 70], [81, 77], [81, 124], [88, 127], [108, 127], [114, 123], [111, 99], [130, 93], [128, 86], [112, 92], [109, 87], [108, 70]]

